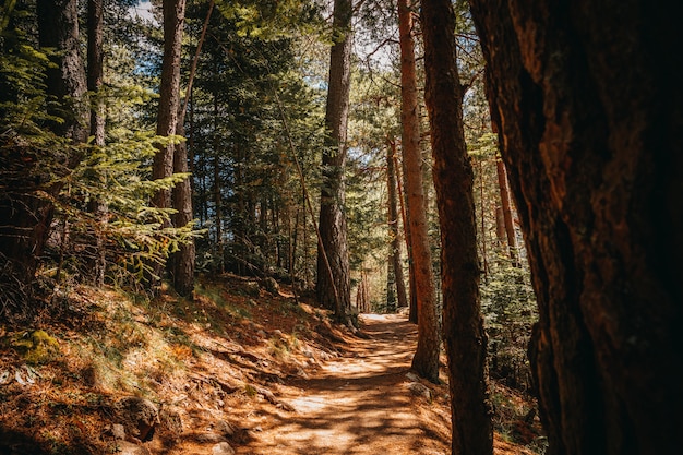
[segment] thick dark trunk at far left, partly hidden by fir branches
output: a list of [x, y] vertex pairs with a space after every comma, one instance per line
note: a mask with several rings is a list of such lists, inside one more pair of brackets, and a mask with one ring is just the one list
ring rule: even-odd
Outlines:
[[[85, 142], [88, 132], [87, 104], [84, 99], [86, 80], [79, 47], [77, 2], [38, 0], [36, 15], [40, 47], [57, 50], [51, 57], [53, 65], [46, 71], [46, 94], [58, 105], [57, 108], [53, 107], [55, 104], [49, 105], [48, 112], [61, 117], [63, 122], [51, 122], [49, 127], [56, 134], [69, 139], [72, 144]], [[62, 172], [68, 172], [81, 159], [80, 153], [69, 149], [62, 152], [65, 152], [65, 158], [60, 163], [19, 159], [19, 151], [15, 161], [12, 156], [2, 157], [3, 161], [11, 161], [7, 165], [12, 166], [20, 177], [11, 183], [5, 182], [9, 183], [10, 191], [0, 200], [0, 259], [3, 260], [0, 286], [4, 289], [5, 279], [7, 285], [12, 287], [20, 284], [22, 289], [14, 289], [12, 292], [19, 292], [16, 297], [20, 301], [14, 303], [23, 309], [32, 303], [32, 282], [45, 249], [53, 214], [52, 204], [38, 193], [46, 191], [57, 194], [61, 187], [50, 183], [56, 177], [51, 172], [58, 167], [65, 169]], [[22, 151], [21, 157], [26, 152]], [[27, 156], [31, 157], [31, 153]], [[38, 166], [47, 168], [47, 171]], [[7, 291], [10, 292], [9, 289]]]

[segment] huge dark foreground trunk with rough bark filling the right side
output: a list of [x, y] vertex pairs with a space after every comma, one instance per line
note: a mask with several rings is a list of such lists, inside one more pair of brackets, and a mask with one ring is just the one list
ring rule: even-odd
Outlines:
[[470, 5], [538, 297], [548, 453], [678, 453], [681, 5]]

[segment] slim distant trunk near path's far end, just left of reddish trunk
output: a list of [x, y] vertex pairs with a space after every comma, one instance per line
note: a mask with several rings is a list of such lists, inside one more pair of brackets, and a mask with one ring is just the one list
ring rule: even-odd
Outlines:
[[397, 203], [398, 196], [396, 191], [396, 168], [394, 166], [396, 144], [390, 143], [388, 145], [390, 146], [386, 147], [386, 185], [388, 188], [388, 227], [391, 236], [390, 266], [394, 270], [394, 283], [396, 286], [396, 297], [398, 298], [398, 308], [404, 308], [408, 307], [408, 297], [406, 296], [406, 283], [404, 280], [403, 261], [400, 260], [400, 234], [398, 230]]

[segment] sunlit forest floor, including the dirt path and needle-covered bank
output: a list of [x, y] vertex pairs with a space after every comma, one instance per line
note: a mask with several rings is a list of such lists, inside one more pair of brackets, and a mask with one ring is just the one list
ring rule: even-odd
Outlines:
[[[0, 325], [0, 454], [450, 453], [447, 386], [410, 373], [406, 316], [352, 333], [233, 276], [193, 301], [80, 287], [60, 308]], [[130, 399], [159, 411], [146, 436]], [[495, 383], [492, 400], [495, 454], [539, 453], [532, 403]]]

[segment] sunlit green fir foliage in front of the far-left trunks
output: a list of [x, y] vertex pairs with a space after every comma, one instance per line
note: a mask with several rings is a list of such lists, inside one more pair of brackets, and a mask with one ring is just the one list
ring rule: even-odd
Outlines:
[[[122, 14], [117, 20], [127, 21]], [[183, 177], [152, 181], [152, 157], [159, 144], [181, 139], [157, 137], [154, 125], [143, 121], [143, 106], [155, 95], [139, 83], [134, 56], [125, 50], [128, 38], [117, 39], [115, 34], [108, 39], [105, 86], [81, 100], [97, 99], [106, 106], [106, 141], [96, 146], [92, 139], [76, 144], [60, 136], [53, 125], [63, 118], [46, 113], [48, 105], [56, 105], [46, 93], [46, 71], [53, 64], [49, 59], [53, 50], [38, 47], [31, 2], [5, 3], [1, 26], [0, 199], [9, 206], [41, 201], [38, 206], [52, 211], [38, 282], [50, 290], [56, 285], [89, 280], [93, 263], [100, 259], [106, 262], [108, 280], [140, 286], [154, 263], [165, 262], [194, 234], [191, 226], [165, 228], [171, 213], [151, 204], [154, 192], [171, 188]], [[120, 72], [122, 69], [129, 72]], [[95, 211], [95, 204], [104, 212]], [[10, 278], [2, 279], [3, 286], [12, 285]], [[26, 292], [3, 295], [21, 298]], [[32, 304], [3, 303], [7, 311], [20, 312]]]

